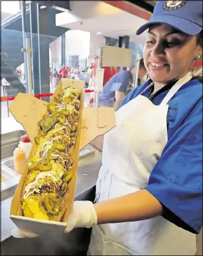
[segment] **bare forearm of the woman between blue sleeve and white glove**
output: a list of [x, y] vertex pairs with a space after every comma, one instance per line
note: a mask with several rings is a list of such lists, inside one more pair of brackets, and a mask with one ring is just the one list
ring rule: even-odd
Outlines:
[[162, 214], [163, 207], [147, 190], [95, 204], [97, 223], [148, 220]]

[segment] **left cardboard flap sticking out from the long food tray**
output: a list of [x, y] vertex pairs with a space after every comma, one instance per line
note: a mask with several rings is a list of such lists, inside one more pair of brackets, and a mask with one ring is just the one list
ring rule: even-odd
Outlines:
[[22, 124], [32, 144], [38, 131], [37, 123], [46, 112], [47, 102], [26, 93], [18, 93], [9, 107], [12, 115]]

